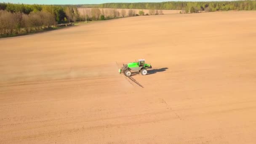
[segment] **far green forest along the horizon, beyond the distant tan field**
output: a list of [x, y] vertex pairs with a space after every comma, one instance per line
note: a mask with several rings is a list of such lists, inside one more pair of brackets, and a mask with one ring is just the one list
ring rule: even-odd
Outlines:
[[[86, 6], [86, 5], [77, 5]], [[91, 6], [91, 5], [90, 5]], [[211, 2], [162, 2], [162, 3], [103, 3], [93, 5], [98, 8], [129, 8], [129, 9], [158, 9], [190, 11], [229, 11], [229, 10], [256, 10], [255, 0], [240, 1], [211, 1]]]

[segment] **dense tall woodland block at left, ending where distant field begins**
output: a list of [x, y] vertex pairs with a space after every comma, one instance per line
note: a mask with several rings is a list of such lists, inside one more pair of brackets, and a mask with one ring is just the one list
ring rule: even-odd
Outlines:
[[26, 5], [0, 3], [0, 36], [38, 32], [58, 23], [80, 20], [72, 5]]

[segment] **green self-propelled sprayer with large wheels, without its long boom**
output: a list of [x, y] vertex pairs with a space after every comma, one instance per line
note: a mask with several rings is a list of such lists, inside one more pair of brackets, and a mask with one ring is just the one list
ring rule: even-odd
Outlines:
[[124, 73], [126, 76], [131, 76], [131, 71], [139, 71], [141, 75], [147, 75], [147, 69], [151, 69], [150, 64], [145, 64], [144, 59], [139, 59], [139, 61], [131, 62], [128, 64], [123, 64], [123, 67], [119, 69], [119, 73]]

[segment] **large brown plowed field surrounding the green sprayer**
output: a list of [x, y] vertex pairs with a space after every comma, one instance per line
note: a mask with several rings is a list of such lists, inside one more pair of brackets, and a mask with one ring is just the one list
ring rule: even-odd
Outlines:
[[[118, 67], [146, 59], [149, 75]], [[0, 40], [0, 143], [255, 144], [256, 11]]]

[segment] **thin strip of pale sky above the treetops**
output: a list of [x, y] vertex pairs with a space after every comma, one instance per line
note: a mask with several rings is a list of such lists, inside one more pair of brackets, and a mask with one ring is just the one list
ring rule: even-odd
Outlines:
[[[100, 4], [100, 3], [138, 3], [138, 2], [163, 2], [163, 1], [216, 1], [216, 0], [0, 0], [1, 3], [24, 4]], [[221, 1], [221, 0], [218, 0]], [[227, 0], [226, 0], [227, 1]]]

